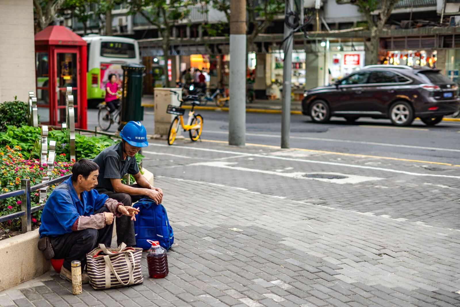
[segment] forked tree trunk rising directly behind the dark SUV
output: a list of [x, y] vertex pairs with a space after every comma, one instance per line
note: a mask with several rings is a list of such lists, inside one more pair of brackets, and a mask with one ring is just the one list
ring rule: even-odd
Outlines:
[[[368, 27], [371, 32], [370, 55], [371, 64], [377, 64], [379, 61], [380, 35], [386, 21], [391, 15], [393, 8], [400, 0], [336, 0], [338, 4], [352, 4], [359, 8], [364, 14]], [[379, 13], [373, 16], [372, 12], [377, 10], [380, 4]]]

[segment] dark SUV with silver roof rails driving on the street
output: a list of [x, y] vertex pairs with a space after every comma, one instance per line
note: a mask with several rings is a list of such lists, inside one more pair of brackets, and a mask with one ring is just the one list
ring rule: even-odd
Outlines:
[[331, 116], [348, 122], [372, 117], [408, 126], [420, 117], [426, 125], [436, 125], [459, 109], [457, 88], [436, 69], [370, 65], [332, 85], [306, 91], [302, 113], [313, 122], [328, 122]]

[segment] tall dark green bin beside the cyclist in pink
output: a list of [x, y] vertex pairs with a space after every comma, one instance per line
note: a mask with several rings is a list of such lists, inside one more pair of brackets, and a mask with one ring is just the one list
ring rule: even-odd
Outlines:
[[118, 130], [127, 122], [144, 120], [144, 107], [141, 105], [142, 80], [145, 66], [141, 64], [123, 64], [123, 93], [121, 95], [121, 124]]

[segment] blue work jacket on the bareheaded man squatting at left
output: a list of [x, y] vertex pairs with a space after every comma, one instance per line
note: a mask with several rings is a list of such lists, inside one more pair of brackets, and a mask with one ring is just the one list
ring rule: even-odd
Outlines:
[[80, 200], [70, 177], [58, 185], [46, 201], [41, 213], [40, 237], [57, 237], [72, 232], [72, 226], [79, 216], [94, 214], [104, 206], [107, 198], [107, 195], [93, 189], [83, 191]]

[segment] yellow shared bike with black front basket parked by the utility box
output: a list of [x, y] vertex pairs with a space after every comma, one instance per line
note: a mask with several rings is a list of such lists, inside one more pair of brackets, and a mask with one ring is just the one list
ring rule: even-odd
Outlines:
[[[174, 91], [170, 92], [178, 96], [178, 93]], [[179, 99], [178, 96], [177, 100], [180, 102], [179, 106], [169, 104], [166, 111], [168, 114], [176, 115], [176, 117], [173, 119], [173, 122], [171, 123], [171, 126], [169, 127], [168, 145], [173, 145], [179, 129], [179, 124], [181, 125], [182, 129], [184, 129], [184, 131], [189, 132], [190, 139], [192, 141], [198, 140], [200, 138], [201, 132], [203, 131], [203, 116], [195, 114], [195, 111], [193, 110], [196, 105], [200, 105], [200, 98], [195, 95], [187, 95], [184, 99]], [[189, 111], [187, 125], [184, 125], [185, 109], [182, 108], [182, 104], [184, 104], [184, 102], [190, 102], [192, 105], [192, 109]]]

